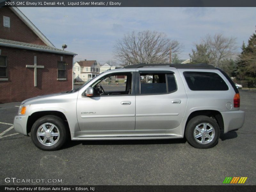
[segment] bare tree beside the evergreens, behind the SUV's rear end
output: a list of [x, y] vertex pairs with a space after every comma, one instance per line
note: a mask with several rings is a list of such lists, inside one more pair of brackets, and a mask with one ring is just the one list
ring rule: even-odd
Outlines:
[[190, 59], [193, 62], [205, 61], [215, 67], [221, 67], [222, 60], [231, 59], [236, 55], [236, 38], [225, 37], [220, 33], [214, 36], [206, 35], [200, 44], [196, 44], [196, 50], [192, 49]]

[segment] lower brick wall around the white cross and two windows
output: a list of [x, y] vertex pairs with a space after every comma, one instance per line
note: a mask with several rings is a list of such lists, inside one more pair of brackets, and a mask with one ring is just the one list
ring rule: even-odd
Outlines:
[[[64, 92], [72, 89], [72, 62], [69, 55], [36, 52], [0, 46], [1, 55], [7, 56], [8, 81], [0, 81], [0, 103], [22, 101], [38, 95]], [[37, 87], [34, 86], [34, 56], [37, 56]], [[63, 56], [67, 63], [67, 80], [57, 80], [57, 62]]]

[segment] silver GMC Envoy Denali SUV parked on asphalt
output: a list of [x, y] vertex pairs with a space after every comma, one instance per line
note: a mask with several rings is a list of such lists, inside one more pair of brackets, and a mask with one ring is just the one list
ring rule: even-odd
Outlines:
[[[124, 80], [126, 79], [126, 83]], [[196, 148], [218, 143], [244, 124], [236, 85], [207, 64], [138, 64], [108, 70], [76, 90], [21, 103], [17, 132], [36, 147], [71, 140], [183, 138]]]

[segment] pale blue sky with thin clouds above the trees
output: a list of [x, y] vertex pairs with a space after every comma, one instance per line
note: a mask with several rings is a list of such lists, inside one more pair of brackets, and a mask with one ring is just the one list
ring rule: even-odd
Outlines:
[[[164, 32], [184, 45], [180, 59], [189, 59], [194, 44], [207, 34], [237, 38], [237, 46], [255, 32], [256, 8], [176, 7], [20, 7], [55, 45], [67, 44], [76, 60], [116, 60], [113, 46], [132, 31]], [[237, 49], [240, 52], [240, 48]]]

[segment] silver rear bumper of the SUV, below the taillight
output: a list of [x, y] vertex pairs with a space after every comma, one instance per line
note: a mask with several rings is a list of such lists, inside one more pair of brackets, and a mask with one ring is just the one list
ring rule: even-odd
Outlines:
[[224, 133], [240, 129], [244, 124], [244, 111], [223, 111], [220, 112], [224, 122]]

